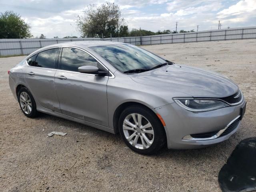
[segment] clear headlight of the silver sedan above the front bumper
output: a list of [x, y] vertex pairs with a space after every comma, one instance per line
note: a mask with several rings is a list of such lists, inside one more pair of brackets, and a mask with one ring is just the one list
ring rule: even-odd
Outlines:
[[194, 98], [173, 98], [173, 100], [182, 108], [192, 112], [204, 112], [220, 109], [229, 106], [220, 100], [194, 99]]

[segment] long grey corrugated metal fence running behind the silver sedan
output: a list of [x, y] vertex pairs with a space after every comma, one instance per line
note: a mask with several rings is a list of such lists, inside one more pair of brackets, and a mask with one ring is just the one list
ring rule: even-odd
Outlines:
[[57, 39], [0, 39], [0, 56], [30, 54], [35, 50], [62, 42], [81, 40], [106, 40], [133, 45], [202, 42], [256, 38], [256, 27], [230, 28], [189, 33], [163, 34], [126, 38], [57, 38]]

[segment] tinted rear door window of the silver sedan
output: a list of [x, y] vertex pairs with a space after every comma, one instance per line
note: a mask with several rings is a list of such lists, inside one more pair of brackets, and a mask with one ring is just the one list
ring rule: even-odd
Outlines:
[[58, 49], [53, 48], [38, 53], [34, 66], [53, 69]]

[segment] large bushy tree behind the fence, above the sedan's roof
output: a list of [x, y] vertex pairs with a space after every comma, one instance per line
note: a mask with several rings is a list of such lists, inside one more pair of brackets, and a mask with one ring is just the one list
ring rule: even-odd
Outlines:
[[124, 24], [121, 9], [118, 5], [110, 2], [102, 4], [90, 4], [83, 11], [82, 16], [78, 16], [76, 25], [82, 37], [103, 36], [119, 37], [120, 26]]

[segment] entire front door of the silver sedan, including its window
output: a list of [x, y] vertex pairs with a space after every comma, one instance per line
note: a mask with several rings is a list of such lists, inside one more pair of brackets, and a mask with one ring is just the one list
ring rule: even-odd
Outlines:
[[108, 77], [78, 72], [78, 67], [85, 65], [106, 69], [93, 56], [78, 48], [64, 47], [60, 55], [55, 87], [62, 113], [108, 126]]

